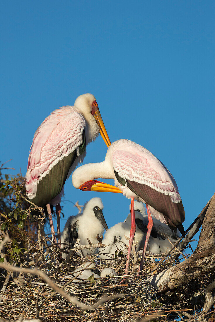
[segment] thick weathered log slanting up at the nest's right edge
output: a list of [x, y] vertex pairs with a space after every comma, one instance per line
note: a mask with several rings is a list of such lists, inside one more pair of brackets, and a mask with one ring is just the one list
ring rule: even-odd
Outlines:
[[150, 277], [148, 281], [160, 292], [175, 289], [215, 271], [215, 194], [213, 195], [200, 232], [194, 253], [170, 269]]

